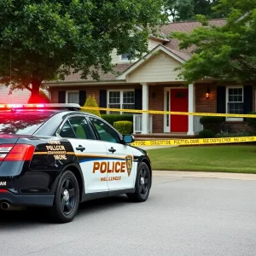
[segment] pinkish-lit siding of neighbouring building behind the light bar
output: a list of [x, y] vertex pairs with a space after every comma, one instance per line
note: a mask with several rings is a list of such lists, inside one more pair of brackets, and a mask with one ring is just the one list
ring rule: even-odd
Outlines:
[[[45, 94], [49, 96], [49, 93], [45, 91]], [[0, 104], [26, 104], [31, 92], [29, 90], [15, 90], [9, 95], [9, 87], [4, 84], [0, 84]]]

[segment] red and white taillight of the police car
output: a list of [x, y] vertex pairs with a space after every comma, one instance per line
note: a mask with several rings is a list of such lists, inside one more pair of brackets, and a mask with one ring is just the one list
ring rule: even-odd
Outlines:
[[35, 147], [27, 144], [0, 145], [1, 161], [26, 161], [32, 160]]

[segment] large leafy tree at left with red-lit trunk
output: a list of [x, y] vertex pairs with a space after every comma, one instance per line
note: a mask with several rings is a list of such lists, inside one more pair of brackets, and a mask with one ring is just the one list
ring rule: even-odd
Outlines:
[[[0, 83], [32, 91], [45, 80], [113, 71], [110, 53], [147, 51], [148, 28], [166, 20], [164, 0], [1, 0]], [[130, 37], [133, 32], [133, 37]], [[33, 101], [33, 99], [32, 99]]]

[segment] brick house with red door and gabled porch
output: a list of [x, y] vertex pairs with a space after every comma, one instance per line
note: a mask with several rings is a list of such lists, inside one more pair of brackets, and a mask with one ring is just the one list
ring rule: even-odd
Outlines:
[[[223, 26], [224, 19], [210, 21]], [[51, 102], [76, 102], [84, 105], [86, 96], [94, 95], [99, 107], [166, 110], [177, 112], [248, 113], [255, 110], [255, 90], [247, 84], [219, 86], [213, 79], [184, 86], [177, 80], [181, 63], [189, 60], [189, 50], [178, 49], [177, 40], [168, 38], [172, 31], [191, 32], [196, 21], [170, 23], [160, 27], [166, 38], [148, 38], [150, 52], [141, 60], [128, 61], [127, 55], [112, 53], [115, 70], [120, 74], [101, 74], [101, 81], [80, 79], [79, 74], [64, 81], [51, 81]], [[244, 129], [241, 118], [226, 118], [230, 129]], [[134, 114], [135, 133], [194, 136], [202, 130], [200, 117], [147, 113]]]

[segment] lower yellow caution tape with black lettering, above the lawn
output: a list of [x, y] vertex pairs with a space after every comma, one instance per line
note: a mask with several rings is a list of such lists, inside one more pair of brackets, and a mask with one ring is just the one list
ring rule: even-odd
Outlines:
[[188, 146], [203, 144], [222, 144], [222, 143], [253, 143], [256, 137], [218, 137], [218, 138], [191, 138], [191, 139], [171, 139], [171, 140], [150, 140], [135, 141], [131, 146]]

